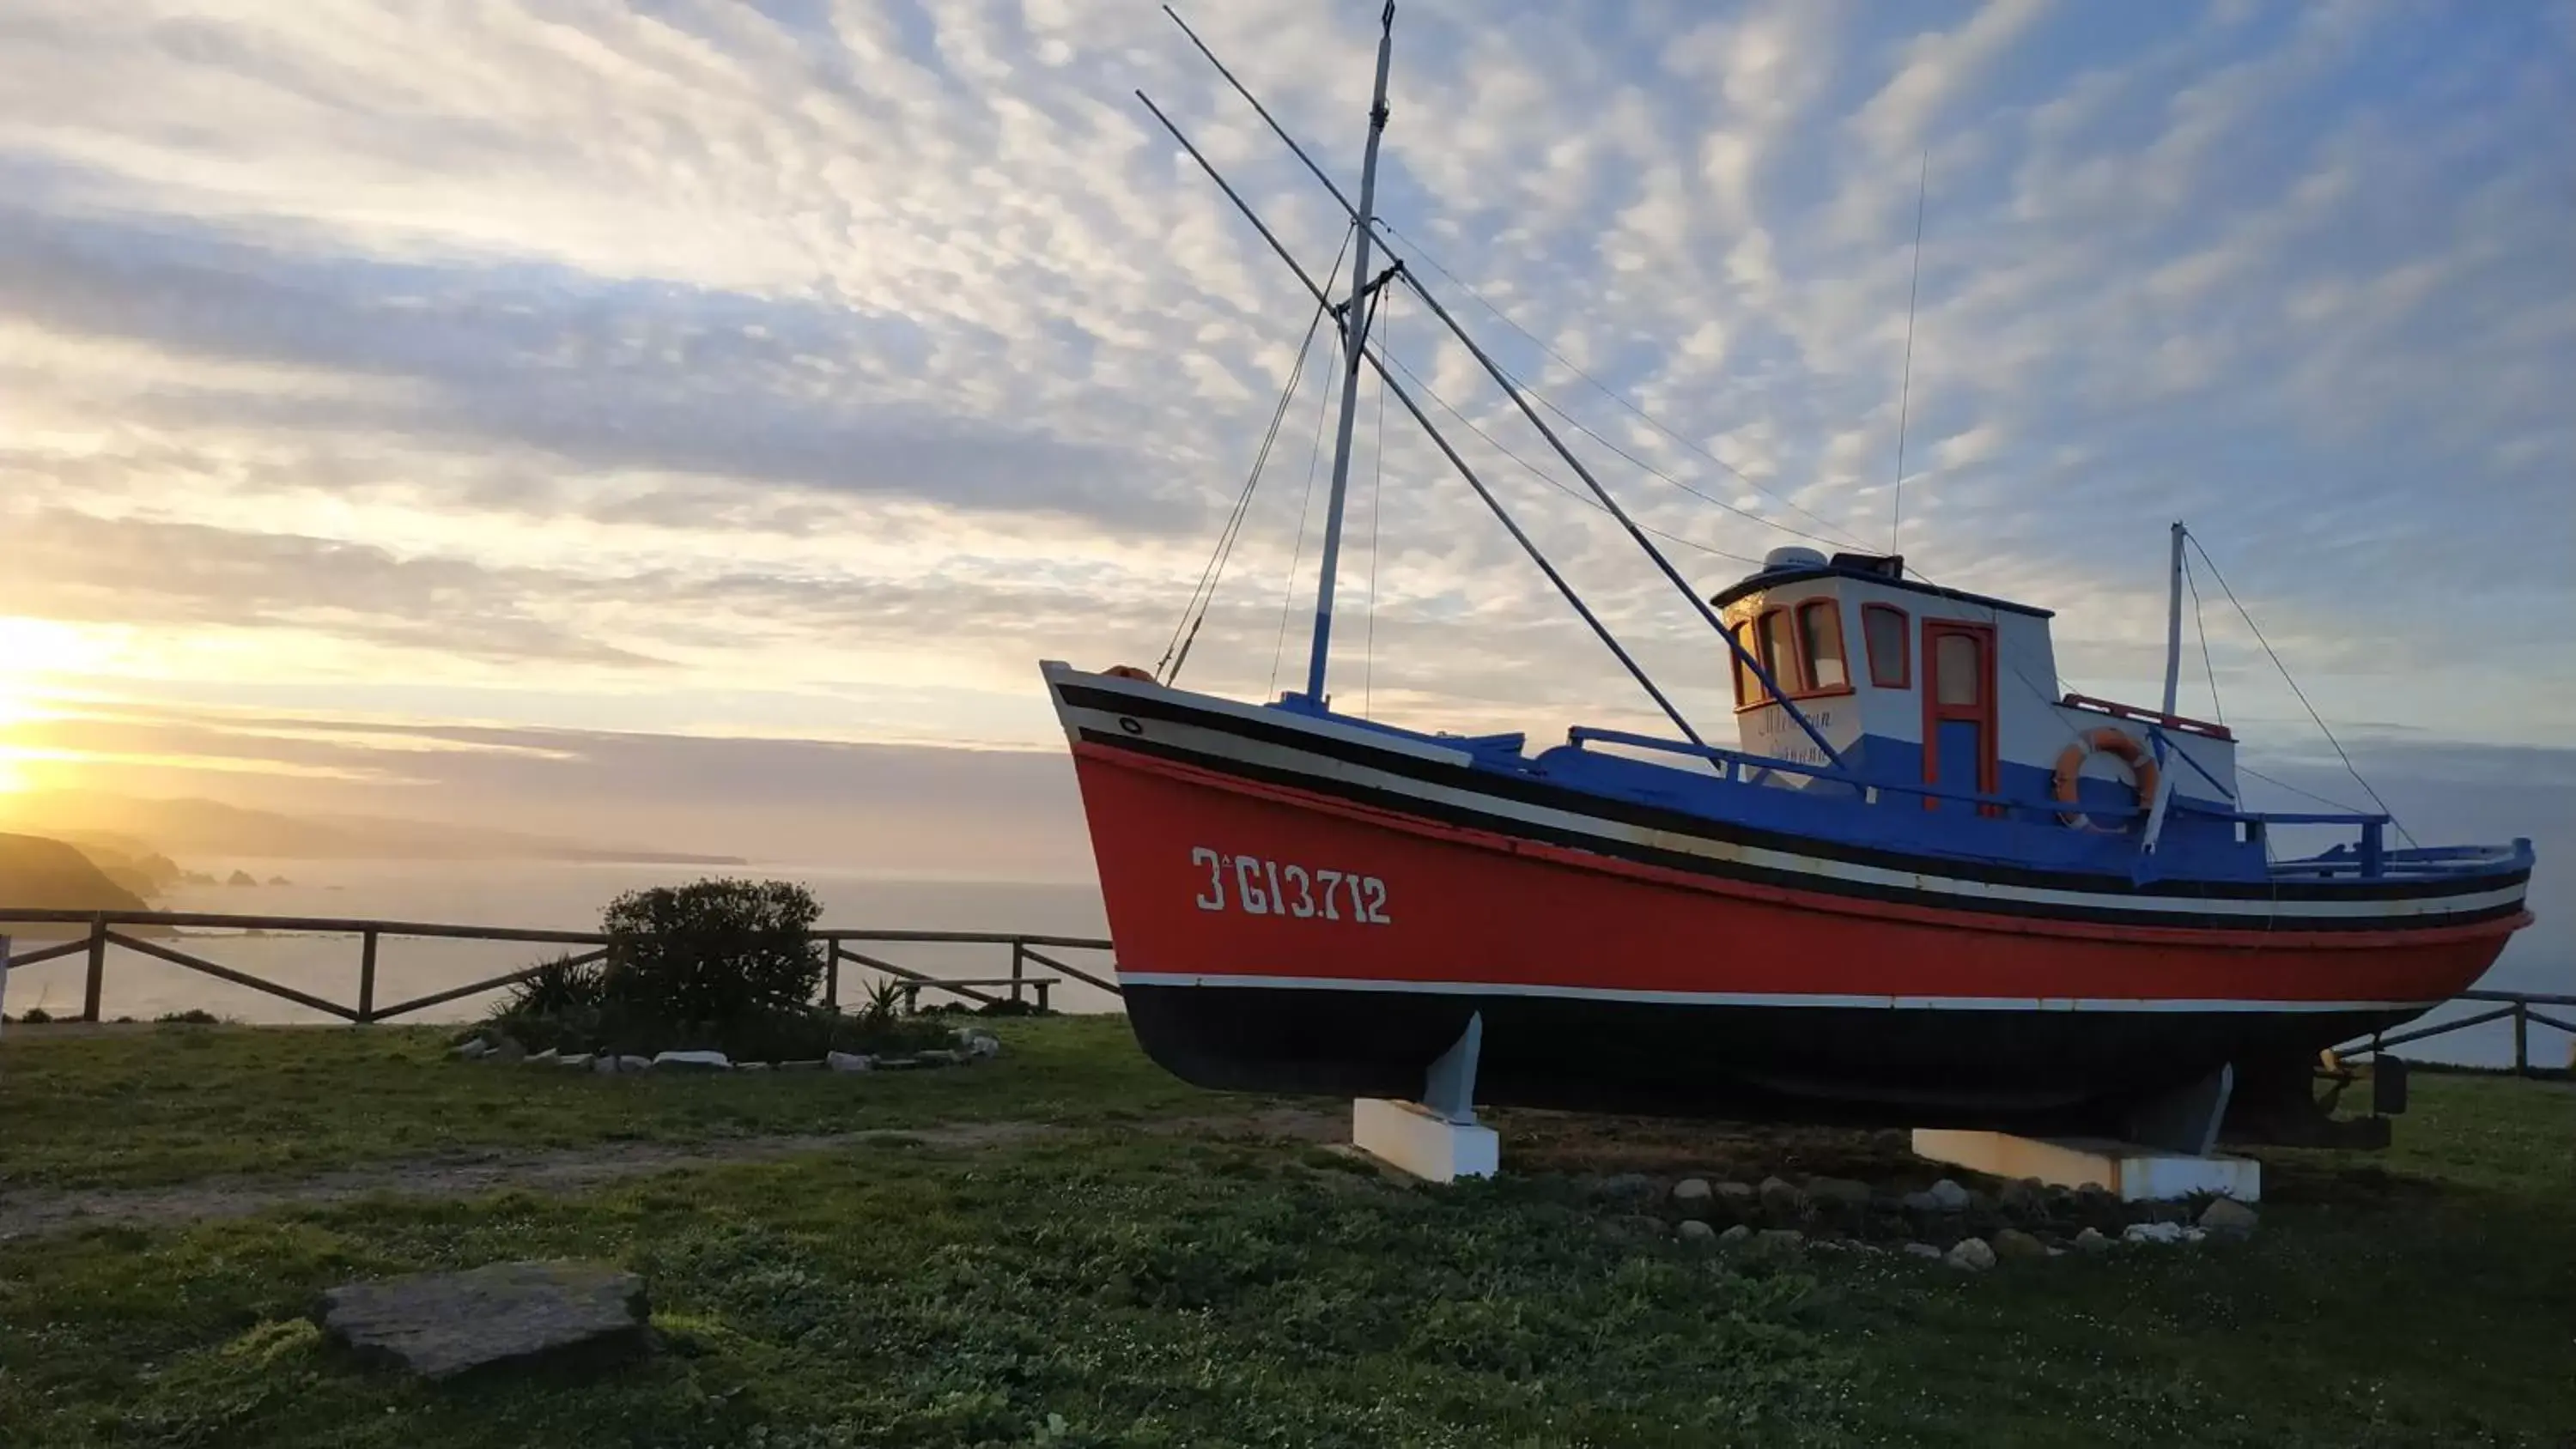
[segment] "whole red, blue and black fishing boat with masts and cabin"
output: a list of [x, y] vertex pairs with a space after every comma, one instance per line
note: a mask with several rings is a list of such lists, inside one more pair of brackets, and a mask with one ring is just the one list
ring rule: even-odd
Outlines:
[[[1043, 664], [1157, 1063], [1213, 1089], [1414, 1099], [1466, 1050], [1484, 1104], [2138, 1140], [2182, 1104], [2205, 1150], [2221, 1114], [2231, 1135], [2313, 1135], [2324, 1048], [2442, 1004], [2530, 924], [2527, 839], [2416, 847], [2385, 811], [2244, 806], [2236, 734], [2174, 708], [2179, 522], [2156, 708], [2063, 690], [2045, 607], [1893, 553], [1788, 546], [1716, 589], [1685, 579], [1409, 268], [1370, 270], [1391, 21], [1358, 201], [1280, 131], [1352, 214], [1347, 301], [1226, 188], [1345, 368], [1303, 690]], [[1455, 329], [1682, 589], [1731, 667], [1736, 744], [1703, 739], [1388, 371], [1368, 337], [1388, 286]], [[1672, 734], [1577, 726], [1533, 749], [1334, 708], [1363, 368]], [[2282, 857], [2285, 826], [2344, 839]]]

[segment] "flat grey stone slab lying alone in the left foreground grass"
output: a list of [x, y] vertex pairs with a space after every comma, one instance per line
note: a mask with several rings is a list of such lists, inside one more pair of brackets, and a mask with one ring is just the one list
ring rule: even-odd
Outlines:
[[644, 1279], [605, 1264], [489, 1264], [358, 1282], [314, 1307], [327, 1341], [430, 1380], [580, 1346], [636, 1354], [644, 1315]]

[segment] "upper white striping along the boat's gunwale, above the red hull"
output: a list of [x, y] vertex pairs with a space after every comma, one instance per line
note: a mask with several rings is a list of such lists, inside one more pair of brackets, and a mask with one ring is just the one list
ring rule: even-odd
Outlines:
[[[1283, 710], [1257, 710], [1249, 705], [1236, 705], [1231, 700], [1213, 700], [1206, 695], [1185, 695], [1164, 687], [1141, 687], [1128, 679], [1084, 677], [1084, 687], [1097, 687], [1108, 692], [1133, 692], [1141, 697], [1172, 700], [1188, 708], [1206, 708], [1229, 715], [1242, 715], [1247, 721], [1260, 721], [1270, 728], [1293, 728], [1332, 739], [1355, 739], [1373, 749], [1394, 749], [1399, 754], [1414, 754], [1425, 759], [1440, 759], [1450, 764], [1466, 764], [1468, 754], [1458, 749], [1425, 749], [1412, 746], [1412, 741], [1381, 736], [1370, 731], [1358, 731], [1352, 726], [1329, 726], [1329, 721], [1309, 721]], [[1133, 734], [1123, 728], [1121, 715], [1108, 710], [1090, 710], [1064, 703], [1056, 695], [1056, 715], [1064, 721], [1066, 734], [1079, 739], [1082, 728], [1100, 734]], [[1571, 831], [1595, 836], [1602, 842], [1618, 842], [1631, 847], [1649, 847], [1672, 854], [1695, 854], [1700, 860], [1723, 860], [1734, 865], [1814, 875], [1824, 880], [1850, 880], [1862, 885], [1914, 891], [1919, 896], [1945, 896], [1960, 901], [1960, 909], [1976, 909], [1981, 901], [2017, 901], [2032, 906], [2071, 906], [2092, 911], [2128, 911], [2138, 916], [2151, 914], [2177, 914], [2177, 916], [2244, 916], [2249, 924], [2275, 924], [2282, 929], [2298, 929], [2300, 919], [2383, 919], [2391, 924], [2416, 919], [2416, 916], [2458, 916], [2491, 906], [2509, 906], [2522, 901], [2522, 885], [2501, 885], [2496, 891], [2478, 891], [2465, 896], [2432, 896], [2432, 898], [2396, 898], [2396, 901], [2244, 901], [2244, 898], [2202, 898], [2202, 896], [2130, 896], [2120, 891], [2048, 891], [2035, 885], [1991, 885], [1984, 880], [1955, 880], [1945, 875], [1924, 875], [1911, 870], [1888, 870], [1878, 865], [1855, 865], [1842, 860], [1821, 860], [1811, 854], [1793, 854], [1783, 849], [1749, 847], [1736, 842], [1705, 839], [1677, 831], [1656, 831], [1646, 826], [1631, 826], [1623, 821], [1607, 821], [1600, 816], [1587, 816], [1577, 811], [1558, 811], [1551, 806], [1530, 806], [1522, 800], [1510, 800], [1502, 795], [1489, 795], [1481, 790], [1455, 790], [1448, 785], [1432, 785], [1425, 780], [1412, 780], [1406, 775], [1394, 775], [1368, 764], [1352, 764], [1347, 759], [1334, 759], [1329, 754], [1314, 754], [1306, 749], [1278, 746], [1257, 739], [1244, 739], [1239, 734], [1216, 731], [1206, 726], [1188, 726], [1175, 721], [1139, 721], [1144, 723], [1144, 736], [1157, 744], [1170, 744], [1193, 754], [1206, 754], [1213, 759], [1229, 759], [1239, 764], [1255, 764], [1275, 772], [1303, 775], [1311, 780], [1334, 780], [1345, 785], [1360, 785], [1368, 790], [1383, 790], [1391, 795], [1404, 795], [1412, 800], [1425, 800], [1432, 806], [1479, 811], [1486, 816], [1512, 818], [1528, 826]], [[1406, 749], [1412, 746], [1412, 749]], [[1901, 847], [1880, 847], [1901, 849]]]

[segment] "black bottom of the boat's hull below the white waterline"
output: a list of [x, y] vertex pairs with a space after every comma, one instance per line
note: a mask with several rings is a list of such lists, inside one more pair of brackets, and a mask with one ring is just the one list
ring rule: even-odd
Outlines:
[[[2236, 1063], [2306, 1089], [2318, 1050], [2414, 1011], [1932, 1011], [1126, 986], [1136, 1040], [1216, 1091], [1422, 1094], [1484, 1014], [1476, 1102], [1855, 1127], [2123, 1135]], [[2239, 1094], [2239, 1107], [2254, 1107]], [[2280, 1107], [2280, 1104], [2269, 1104]], [[2231, 1114], [2233, 1117], [2233, 1114]]]

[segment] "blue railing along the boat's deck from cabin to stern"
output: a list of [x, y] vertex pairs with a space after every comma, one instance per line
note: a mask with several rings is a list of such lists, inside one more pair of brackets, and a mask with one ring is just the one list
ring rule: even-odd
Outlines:
[[[1808, 780], [1829, 780], [1855, 790], [1862, 803], [1880, 803], [1886, 795], [1904, 795], [1917, 800], [1960, 800], [1968, 806], [2002, 808], [2002, 811], [2045, 811], [2058, 813], [2069, 806], [2063, 800], [2025, 800], [2017, 795], [1994, 795], [1986, 790], [1955, 790], [1947, 785], [1917, 782], [1917, 780], [1870, 780], [1834, 764], [1814, 764], [1806, 759], [1783, 759], [1775, 754], [1752, 754], [1747, 749], [1723, 749], [1716, 744], [1690, 744], [1685, 739], [1659, 739], [1651, 734], [1633, 734], [1620, 728], [1574, 726], [1566, 731], [1566, 744], [1582, 749], [1587, 744], [1623, 744], [1631, 749], [1654, 749], [1662, 754], [1687, 754], [1692, 759], [1705, 759], [1718, 767], [1718, 777], [1728, 782], [1749, 785], [1754, 772], [1780, 772], [1803, 775]], [[2499, 852], [2494, 847], [2434, 847], [2434, 849], [2385, 849], [2383, 831], [2388, 829], [2385, 813], [2367, 811], [2244, 811], [2236, 806], [2213, 806], [2202, 800], [2169, 798], [2169, 811], [2187, 816], [2202, 816], [2213, 821], [2233, 821], [2246, 826], [2249, 839], [2262, 839], [2272, 826], [2352, 826], [2360, 831], [2360, 842], [2344, 842], [2334, 849], [2306, 857], [2285, 860], [2272, 867], [2275, 875], [2447, 875], [2468, 870], [2478, 862], [2506, 860], [2512, 852]], [[2097, 821], [2133, 821], [2151, 816], [2151, 806], [2084, 806], [2084, 816]], [[2349, 854], [2344, 854], [2349, 852]]]

